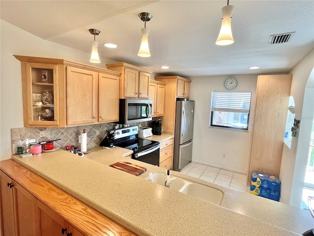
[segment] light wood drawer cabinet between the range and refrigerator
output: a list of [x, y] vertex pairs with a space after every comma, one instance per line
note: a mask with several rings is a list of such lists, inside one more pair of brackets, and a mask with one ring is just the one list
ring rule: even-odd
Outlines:
[[172, 170], [173, 166], [173, 138], [160, 143], [159, 167]]

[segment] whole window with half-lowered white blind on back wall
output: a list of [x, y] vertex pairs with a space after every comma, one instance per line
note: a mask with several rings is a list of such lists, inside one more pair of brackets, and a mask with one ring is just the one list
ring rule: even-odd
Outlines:
[[251, 91], [212, 91], [210, 126], [248, 130]]

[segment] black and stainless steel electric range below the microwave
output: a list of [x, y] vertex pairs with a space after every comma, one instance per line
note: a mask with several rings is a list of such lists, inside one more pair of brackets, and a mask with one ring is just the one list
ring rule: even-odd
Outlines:
[[[132, 159], [159, 166], [159, 142], [138, 138], [138, 126], [112, 130], [114, 133], [113, 146], [133, 150]], [[100, 146], [107, 147], [106, 138]]]

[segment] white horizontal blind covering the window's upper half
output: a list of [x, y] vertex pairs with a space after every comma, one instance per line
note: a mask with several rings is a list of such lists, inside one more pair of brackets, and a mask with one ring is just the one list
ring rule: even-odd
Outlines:
[[211, 111], [250, 113], [251, 91], [212, 91]]

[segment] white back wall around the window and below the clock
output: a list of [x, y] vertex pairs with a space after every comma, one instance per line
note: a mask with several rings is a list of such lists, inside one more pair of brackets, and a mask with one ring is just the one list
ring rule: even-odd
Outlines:
[[228, 77], [231, 75], [191, 78], [190, 99], [195, 100], [192, 161], [247, 174], [258, 75], [232, 76], [238, 81], [235, 91], [252, 91], [248, 131], [209, 127], [211, 91], [226, 90]]

